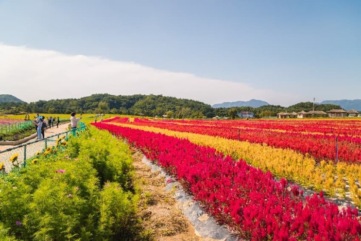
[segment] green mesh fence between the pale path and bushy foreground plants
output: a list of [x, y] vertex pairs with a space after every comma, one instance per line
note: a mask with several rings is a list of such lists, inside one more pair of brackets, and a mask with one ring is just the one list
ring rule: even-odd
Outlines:
[[77, 131], [84, 131], [86, 125], [83, 122], [79, 123], [79, 127], [75, 130], [62, 132], [53, 136], [49, 136], [47, 138], [34, 140], [31, 142], [27, 142], [25, 144], [21, 144], [12, 148], [8, 148], [6, 150], [0, 151], [0, 163], [4, 162], [5, 172], [10, 172], [13, 168], [13, 164], [10, 161], [10, 158], [18, 154], [17, 163], [19, 165], [25, 166], [25, 160], [33, 157], [37, 152], [42, 152], [47, 147], [55, 146], [56, 140], [65, 135], [65, 139], [68, 140], [69, 135], [73, 135], [76, 137], [75, 133]]

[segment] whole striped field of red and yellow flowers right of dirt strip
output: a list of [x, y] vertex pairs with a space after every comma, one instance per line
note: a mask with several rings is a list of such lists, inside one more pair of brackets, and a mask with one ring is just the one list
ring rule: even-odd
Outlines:
[[[336, 163], [332, 156], [316, 152], [314, 147], [329, 148], [331, 152], [329, 137], [337, 136], [339, 147], [347, 147], [340, 150], [359, 152], [359, 121], [114, 118], [93, 125], [128, 139], [172, 173], [220, 223], [228, 224], [243, 238], [360, 240], [358, 210], [339, 209], [323, 196], [326, 192], [350, 198], [359, 206], [360, 159], [348, 154], [356, 157], [347, 159], [343, 155]], [[296, 137], [299, 138], [293, 141]], [[282, 145], [288, 141], [314, 151], [304, 152], [291, 144], [276, 145], [277, 138]], [[288, 180], [319, 193], [305, 196]], [[346, 197], [346, 192], [351, 193], [350, 197]]]

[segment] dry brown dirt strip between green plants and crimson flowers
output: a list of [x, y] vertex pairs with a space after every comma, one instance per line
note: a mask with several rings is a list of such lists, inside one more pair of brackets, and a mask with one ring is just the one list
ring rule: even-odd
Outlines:
[[165, 189], [164, 175], [151, 172], [142, 157], [140, 152], [133, 155], [136, 182], [141, 189], [138, 215], [144, 230], [152, 232], [156, 241], [216, 241], [197, 235], [175, 200], [174, 190]]

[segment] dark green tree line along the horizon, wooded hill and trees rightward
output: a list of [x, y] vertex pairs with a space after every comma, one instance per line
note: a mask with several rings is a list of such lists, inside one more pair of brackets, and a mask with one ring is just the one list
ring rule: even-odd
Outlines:
[[334, 104], [314, 104], [311, 102], [297, 103], [289, 107], [280, 105], [263, 105], [258, 108], [250, 106], [212, 108], [209, 104], [199, 101], [167, 97], [163, 95], [110, 95], [93, 94], [80, 99], [56, 99], [50, 101], [37, 101], [31, 103], [1, 102], [0, 110], [4, 114], [17, 113], [49, 113], [69, 114], [72, 111], [77, 113], [109, 113], [123, 115], [144, 115], [150, 117], [169, 118], [212, 118], [231, 117], [235, 118], [238, 112], [248, 111], [255, 113], [256, 118], [276, 116], [279, 112], [299, 112], [322, 110], [327, 112], [330, 109], [341, 109]]

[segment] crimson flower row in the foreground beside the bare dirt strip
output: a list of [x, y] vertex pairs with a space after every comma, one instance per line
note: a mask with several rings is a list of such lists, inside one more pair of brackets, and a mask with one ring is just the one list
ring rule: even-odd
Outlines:
[[320, 195], [302, 199], [298, 187], [275, 181], [245, 161], [210, 147], [107, 123], [100, 129], [128, 139], [151, 160], [176, 175], [214, 217], [252, 240], [360, 240], [357, 209], [341, 211]]

